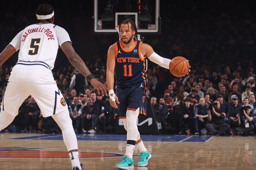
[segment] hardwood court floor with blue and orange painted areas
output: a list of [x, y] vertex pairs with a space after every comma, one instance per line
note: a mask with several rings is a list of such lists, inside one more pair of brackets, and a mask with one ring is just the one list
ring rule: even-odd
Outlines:
[[[147, 167], [134, 169], [256, 169], [256, 137], [141, 135], [152, 153]], [[77, 134], [84, 169], [115, 169], [126, 148], [126, 135]], [[0, 169], [71, 170], [61, 134], [0, 133]]]

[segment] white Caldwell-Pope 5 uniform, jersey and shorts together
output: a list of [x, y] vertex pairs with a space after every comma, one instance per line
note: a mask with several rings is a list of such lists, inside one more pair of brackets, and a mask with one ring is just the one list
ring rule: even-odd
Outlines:
[[5, 112], [18, 115], [20, 105], [29, 95], [44, 117], [68, 109], [51, 71], [57, 50], [66, 41], [70, 41], [67, 31], [51, 23], [30, 25], [15, 36], [10, 44], [20, 52], [4, 92]]

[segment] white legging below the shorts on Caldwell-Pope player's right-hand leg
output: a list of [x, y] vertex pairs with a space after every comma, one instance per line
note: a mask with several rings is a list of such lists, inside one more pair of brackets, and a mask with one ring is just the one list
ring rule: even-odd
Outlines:
[[72, 126], [72, 120], [69, 117], [68, 109], [56, 115], [52, 115], [52, 118], [62, 131], [63, 140], [68, 151], [78, 149], [76, 134]]

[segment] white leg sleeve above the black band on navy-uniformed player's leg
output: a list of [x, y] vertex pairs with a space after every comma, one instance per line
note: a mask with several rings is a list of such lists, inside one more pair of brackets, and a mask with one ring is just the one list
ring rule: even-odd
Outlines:
[[127, 140], [135, 140], [137, 141], [137, 137], [139, 134], [137, 127], [137, 118], [139, 115], [140, 109], [136, 109], [136, 111], [127, 110], [126, 112], [126, 122], [127, 122]]

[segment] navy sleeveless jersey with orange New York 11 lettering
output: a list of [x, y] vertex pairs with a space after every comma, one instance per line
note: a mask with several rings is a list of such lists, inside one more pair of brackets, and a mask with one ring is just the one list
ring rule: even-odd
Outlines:
[[141, 41], [135, 41], [130, 50], [125, 50], [121, 41], [116, 45], [116, 86], [131, 87], [148, 82], [145, 71], [145, 59], [141, 56]]

